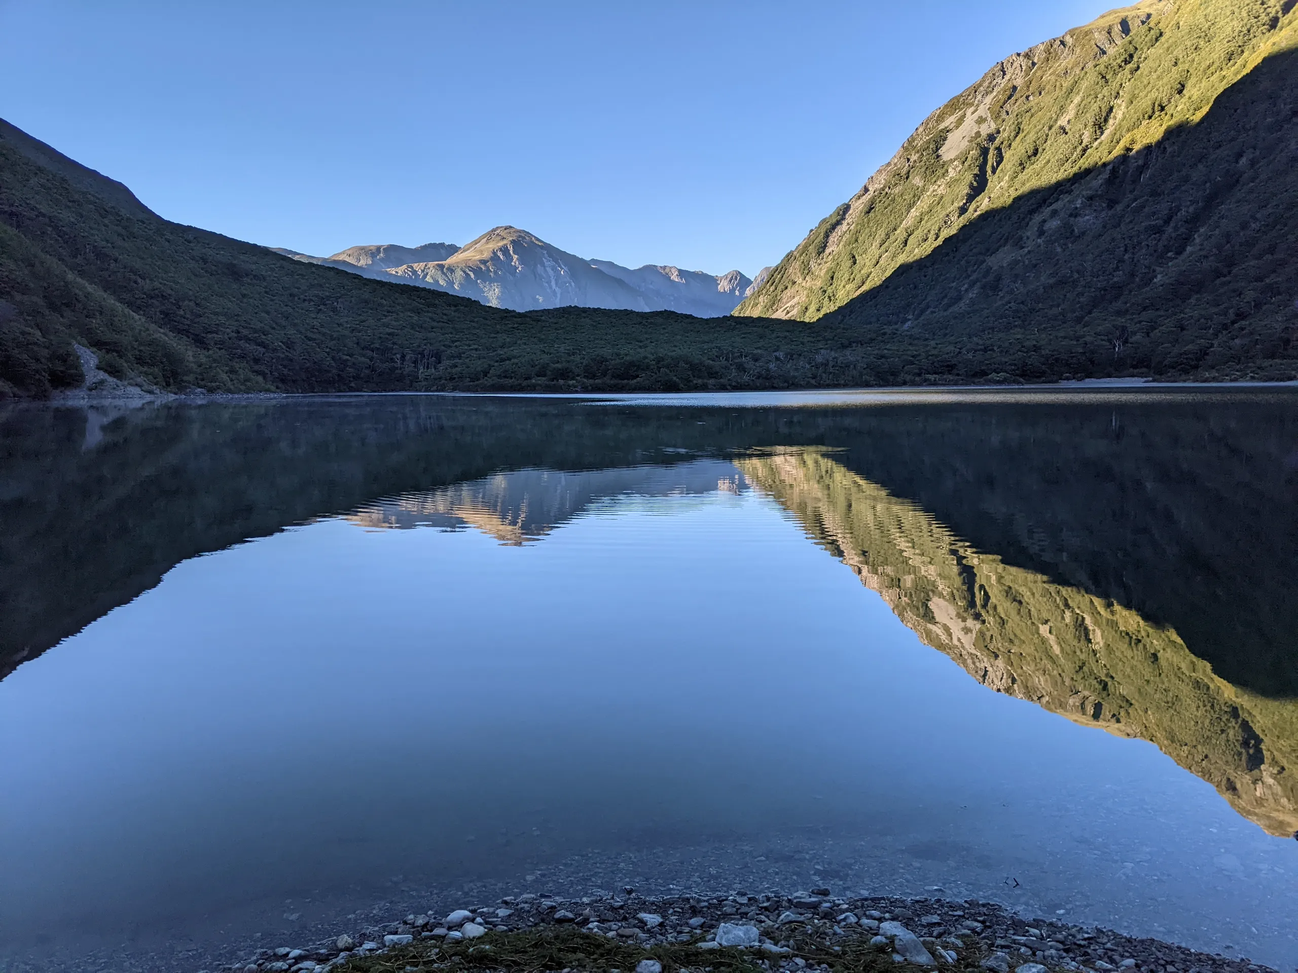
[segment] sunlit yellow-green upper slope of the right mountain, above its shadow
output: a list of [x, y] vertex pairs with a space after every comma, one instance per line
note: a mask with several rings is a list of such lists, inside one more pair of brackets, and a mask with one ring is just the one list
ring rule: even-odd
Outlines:
[[1147, 0], [994, 65], [933, 112], [739, 313], [810, 320], [932, 253], [980, 213], [1199, 121], [1298, 43], [1281, 0]]

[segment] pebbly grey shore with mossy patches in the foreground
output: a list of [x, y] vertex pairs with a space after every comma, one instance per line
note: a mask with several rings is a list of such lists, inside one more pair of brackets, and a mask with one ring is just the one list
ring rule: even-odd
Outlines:
[[[562, 959], [554, 959], [562, 957]], [[554, 965], [558, 963], [566, 965]], [[620, 965], [618, 965], [620, 964]], [[1263, 973], [1268, 967], [984, 902], [793, 895], [648, 898], [623, 889], [565, 899], [506, 896], [449, 915], [261, 950], [221, 973], [528, 969], [663, 973], [752, 969], [839, 973], [918, 965], [988, 973]], [[217, 973], [215, 969], [199, 973]]]

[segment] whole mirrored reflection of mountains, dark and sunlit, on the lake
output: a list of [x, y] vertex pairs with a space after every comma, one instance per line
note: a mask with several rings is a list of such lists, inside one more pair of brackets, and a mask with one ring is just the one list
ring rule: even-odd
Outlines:
[[[291, 524], [467, 523], [522, 544], [650, 488], [662, 467], [736, 458], [981, 682], [1150, 739], [1292, 833], [1294, 403], [1138, 392], [870, 409], [14, 407], [0, 413], [0, 675], [177, 563]], [[715, 489], [719, 470], [698, 467], [698, 488]]]

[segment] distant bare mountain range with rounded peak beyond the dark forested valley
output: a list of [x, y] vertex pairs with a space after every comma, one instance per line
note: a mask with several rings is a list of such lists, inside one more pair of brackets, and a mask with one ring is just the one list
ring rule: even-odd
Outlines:
[[488, 230], [465, 246], [382, 244], [350, 246], [332, 257], [271, 249], [306, 263], [431, 287], [514, 311], [575, 305], [719, 318], [753, 293], [753, 282], [737, 270], [720, 276], [652, 263], [632, 270], [583, 259], [511, 226]]

